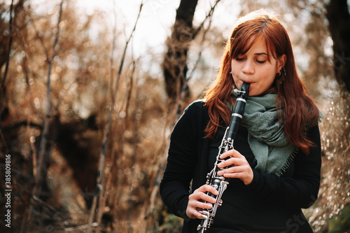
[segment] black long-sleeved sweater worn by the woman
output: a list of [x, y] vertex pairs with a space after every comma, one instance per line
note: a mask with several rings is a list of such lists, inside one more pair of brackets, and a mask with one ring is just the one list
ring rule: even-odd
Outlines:
[[[208, 122], [204, 103], [195, 101], [176, 122], [171, 136], [160, 195], [172, 213], [184, 218], [182, 232], [197, 232], [201, 220], [186, 216], [188, 195], [204, 185], [215, 161], [212, 148], [217, 148], [223, 137], [223, 130], [218, 130], [214, 140], [204, 138]], [[318, 195], [321, 170], [318, 125], [307, 132], [316, 146], [309, 155], [299, 151], [282, 176], [254, 169], [247, 134], [246, 127], [240, 126], [234, 146], [251, 164], [253, 181], [244, 185], [239, 179], [230, 180], [223, 193], [223, 205], [218, 207], [214, 224], [207, 232], [312, 232], [301, 208], [311, 206]]]

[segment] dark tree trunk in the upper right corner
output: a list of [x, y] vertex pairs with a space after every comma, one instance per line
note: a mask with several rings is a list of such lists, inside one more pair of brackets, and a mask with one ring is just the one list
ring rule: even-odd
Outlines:
[[350, 14], [346, 0], [330, 0], [326, 6], [333, 40], [335, 78], [350, 92]]

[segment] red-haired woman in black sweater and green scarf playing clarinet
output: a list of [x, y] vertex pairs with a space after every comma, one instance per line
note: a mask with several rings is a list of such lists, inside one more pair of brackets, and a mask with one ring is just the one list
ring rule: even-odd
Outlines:
[[205, 185], [230, 123], [235, 94], [251, 83], [234, 149], [218, 175], [230, 178], [207, 232], [312, 232], [301, 208], [320, 185], [318, 108], [297, 76], [286, 29], [263, 11], [241, 17], [228, 39], [216, 82], [176, 123], [160, 194], [184, 218], [182, 232], [197, 232], [201, 209], [218, 192]]

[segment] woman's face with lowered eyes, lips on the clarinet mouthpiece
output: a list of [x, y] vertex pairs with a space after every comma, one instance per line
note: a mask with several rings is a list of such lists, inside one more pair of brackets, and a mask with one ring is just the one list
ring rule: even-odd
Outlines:
[[232, 59], [232, 76], [236, 87], [241, 88], [243, 82], [251, 83], [249, 96], [263, 94], [272, 86], [276, 73], [279, 73], [285, 61], [286, 55], [282, 55], [279, 61], [274, 59], [267, 51], [265, 39], [258, 38], [248, 52]]

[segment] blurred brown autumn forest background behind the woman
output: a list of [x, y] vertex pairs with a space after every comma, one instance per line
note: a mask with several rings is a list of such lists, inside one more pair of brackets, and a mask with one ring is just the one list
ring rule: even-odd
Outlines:
[[214, 80], [233, 22], [260, 8], [286, 26], [325, 115], [304, 214], [314, 232], [349, 232], [346, 0], [2, 1], [0, 231], [179, 232], [158, 190], [169, 134]]

